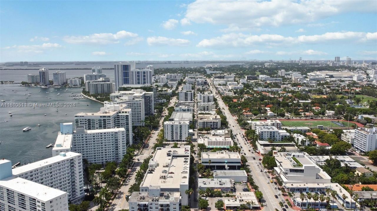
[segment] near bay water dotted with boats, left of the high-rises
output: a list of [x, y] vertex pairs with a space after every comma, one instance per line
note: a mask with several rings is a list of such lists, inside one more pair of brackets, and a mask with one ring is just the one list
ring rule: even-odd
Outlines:
[[[67, 93], [64, 93], [65, 89], [68, 89]], [[38, 90], [41, 91], [38, 92]], [[73, 99], [75, 97], [69, 96], [80, 94], [81, 87], [42, 89], [17, 86], [17, 84], [0, 84], [0, 93], [2, 94], [0, 99], [5, 100], [0, 103], [3, 105], [0, 108], [0, 142], [2, 142], [0, 158], [11, 160], [13, 164], [29, 163], [33, 160], [51, 157], [51, 148], [46, 148], [46, 146], [55, 142], [60, 130], [59, 124], [74, 122], [74, 115], [78, 112], [98, 112], [102, 106], [101, 103], [90, 99]], [[57, 95], [58, 93], [60, 95]], [[35, 107], [33, 109], [28, 105], [29, 103], [56, 104], [56, 102], [70, 107]], [[8, 107], [9, 103], [22, 103], [22, 107]], [[12, 112], [13, 116], [9, 116], [8, 112]], [[23, 132], [22, 129], [25, 127], [32, 129]]]

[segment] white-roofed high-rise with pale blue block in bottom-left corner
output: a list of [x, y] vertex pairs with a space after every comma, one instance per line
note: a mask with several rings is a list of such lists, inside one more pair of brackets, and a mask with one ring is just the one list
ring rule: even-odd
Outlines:
[[0, 160], [1, 211], [68, 210], [68, 193], [12, 175], [12, 163]]

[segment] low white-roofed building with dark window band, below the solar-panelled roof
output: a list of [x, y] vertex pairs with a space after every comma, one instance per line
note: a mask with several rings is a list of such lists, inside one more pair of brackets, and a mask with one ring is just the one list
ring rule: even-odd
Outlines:
[[238, 152], [216, 151], [202, 152], [202, 164], [213, 169], [239, 169], [241, 156]]

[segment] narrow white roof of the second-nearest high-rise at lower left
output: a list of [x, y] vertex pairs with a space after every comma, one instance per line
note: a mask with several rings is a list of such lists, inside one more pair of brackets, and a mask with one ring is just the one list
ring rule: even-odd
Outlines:
[[44, 160], [40, 160], [40, 161], [37, 161], [37, 162], [34, 162], [34, 163], [30, 163], [30, 164], [26, 164], [24, 166], [14, 168], [14, 169], [12, 169], [12, 173], [13, 173], [13, 175], [17, 176], [17, 175], [23, 174], [25, 172], [29, 172], [29, 171], [34, 170], [34, 169], [38, 169], [38, 168], [41, 168], [41, 167], [44, 167], [44, 166], [49, 166], [53, 163], [58, 163], [60, 161], [73, 158], [73, 157], [81, 155], [81, 154], [76, 153], [76, 152], [66, 152], [65, 155], [66, 156], [57, 155], [57, 156], [54, 156], [54, 157], [51, 157], [51, 158], [46, 158]]

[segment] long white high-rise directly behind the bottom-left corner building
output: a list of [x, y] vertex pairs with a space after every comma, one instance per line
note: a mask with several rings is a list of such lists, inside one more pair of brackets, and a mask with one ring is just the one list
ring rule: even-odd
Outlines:
[[54, 157], [14, 168], [12, 173], [13, 176], [67, 192], [68, 200], [72, 203], [79, 203], [84, 199], [81, 154], [61, 152]]

